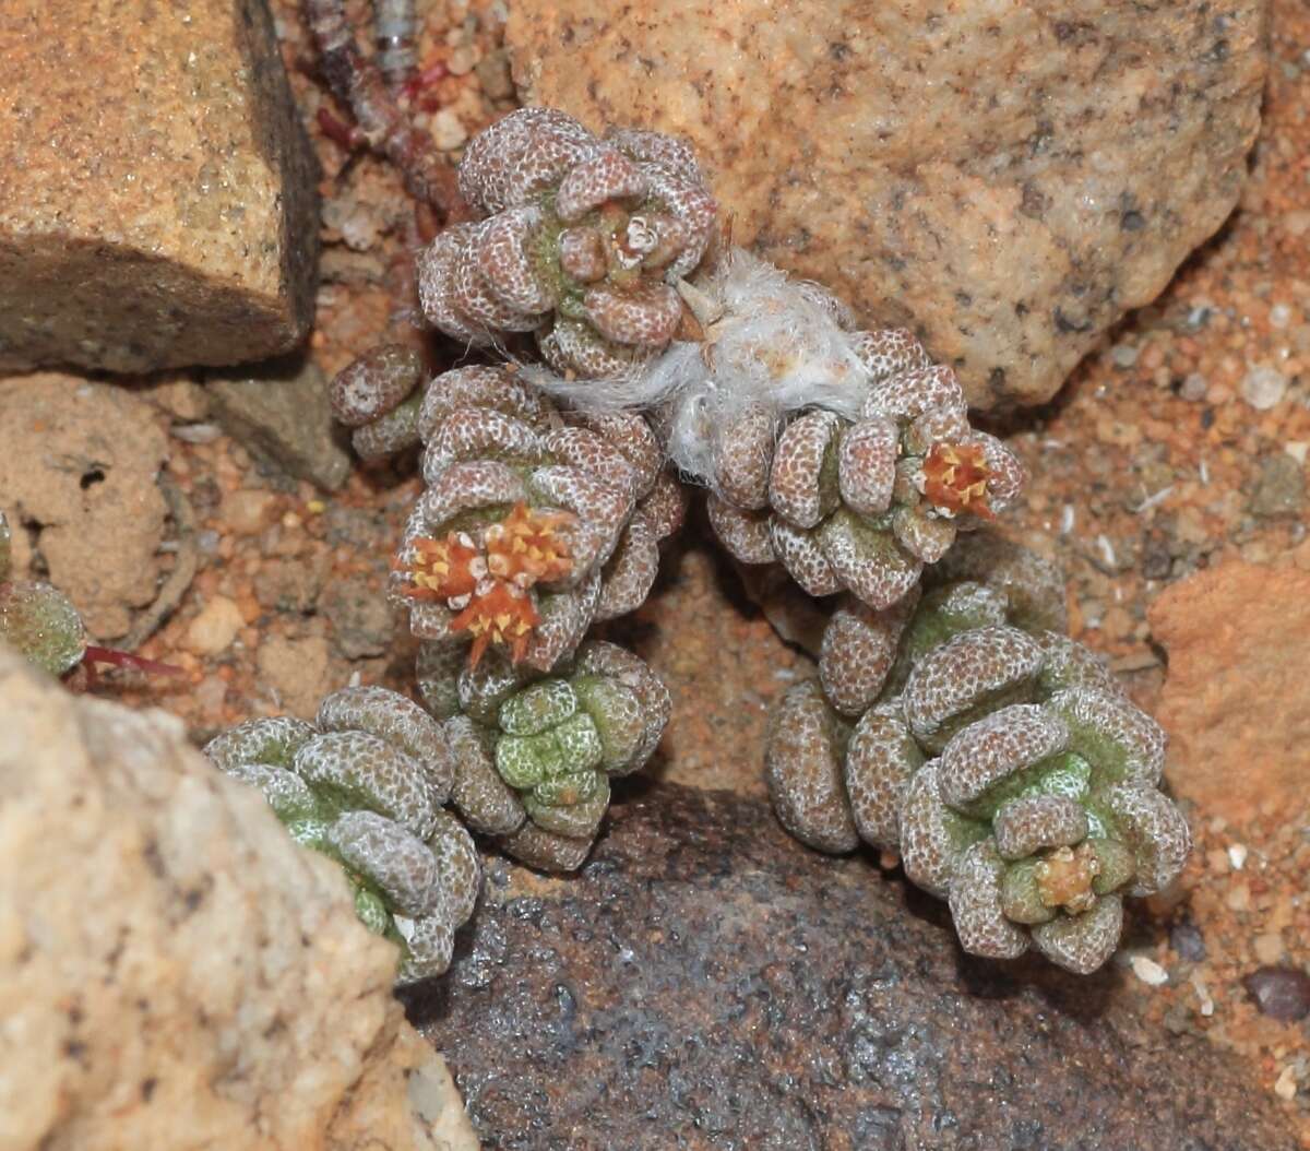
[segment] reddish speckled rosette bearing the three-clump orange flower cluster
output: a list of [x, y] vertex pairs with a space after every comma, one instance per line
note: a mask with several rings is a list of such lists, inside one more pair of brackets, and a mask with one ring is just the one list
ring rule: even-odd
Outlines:
[[642, 603], [683, 515], [643, 417], [561, 413], [503, 368], [466, 367], [428, 385], [417, 427], [428, 486], [393, 583], [415, 636], [549, 671]]

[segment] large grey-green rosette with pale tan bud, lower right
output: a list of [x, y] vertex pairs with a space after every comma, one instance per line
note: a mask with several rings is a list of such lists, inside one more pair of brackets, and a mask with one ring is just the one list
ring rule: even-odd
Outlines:
[[950, 902], [965, 950], [1031, 945], [1089, 973], [1117, 946], [1123, 898], [1172, 882], [1191, 836], [1159, 789], [1163, 730], [1043, 627], [1061, 615], [1056, 587], [1032, 561], [931, 589], [913, 611], [846, 604], [823, 687], [796, 686], [774, 717], [766, 775], [804, 843], [897, 848]]

